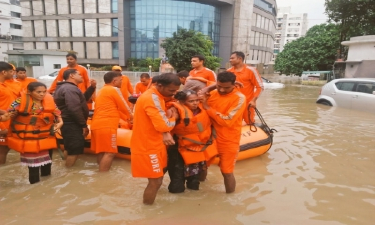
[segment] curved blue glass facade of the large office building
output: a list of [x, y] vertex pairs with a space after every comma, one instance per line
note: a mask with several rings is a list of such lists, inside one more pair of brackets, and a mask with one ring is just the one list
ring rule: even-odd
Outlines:
[[200, 31], [219, 55], [220, 7], [183, 0], [131, 0], [131, 57], [157, 58], [160, 41], [180, 28]]

